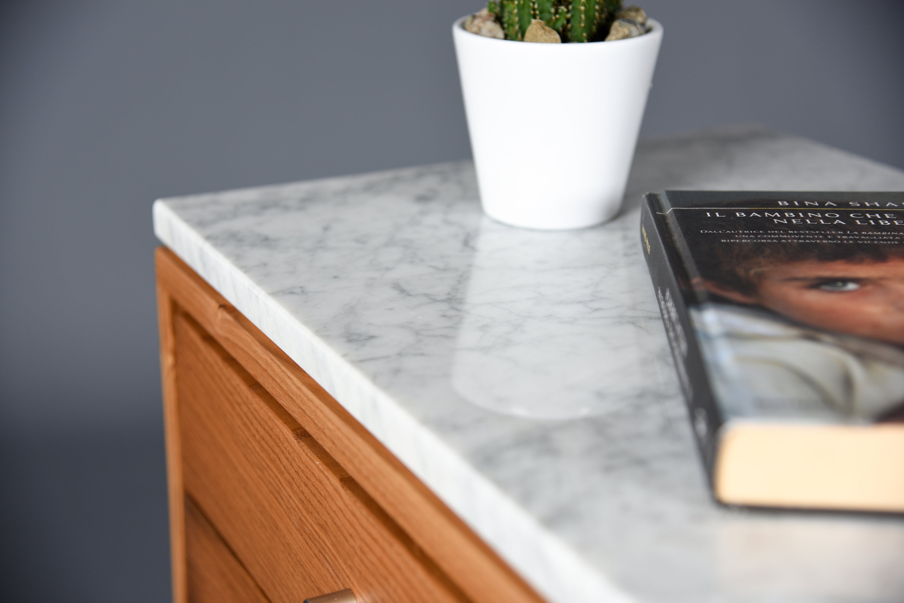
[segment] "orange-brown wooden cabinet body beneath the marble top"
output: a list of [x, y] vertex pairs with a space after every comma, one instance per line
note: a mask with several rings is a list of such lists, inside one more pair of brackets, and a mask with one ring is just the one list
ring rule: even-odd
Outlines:
[[156, 260], [176, 603], [541, 601], [212, 287]]

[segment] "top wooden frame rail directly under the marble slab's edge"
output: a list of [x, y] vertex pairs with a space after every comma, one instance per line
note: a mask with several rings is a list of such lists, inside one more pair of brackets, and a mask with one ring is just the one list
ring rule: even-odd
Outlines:
[[527, 584], [306, 372], [165, 248], [158, 287], [304, 426], [375, 508], [467, 598], [541, 603]]

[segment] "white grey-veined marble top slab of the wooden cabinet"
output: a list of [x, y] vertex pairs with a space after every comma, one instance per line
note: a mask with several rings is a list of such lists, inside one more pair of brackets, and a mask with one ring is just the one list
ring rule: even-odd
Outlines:
[[904, 190], [758, 127], [642, 141], [585, 231], [469, 162], [157, 201], [157, 237], [554, 603], [904, 600], [904, 520], [713, 504], [637, 235], [646, 191]]

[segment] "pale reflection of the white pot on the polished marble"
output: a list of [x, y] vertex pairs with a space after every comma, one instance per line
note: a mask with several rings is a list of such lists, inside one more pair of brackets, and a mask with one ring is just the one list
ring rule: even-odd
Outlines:
[[662, 346], [644, 335], [661, 327], [637, 236], [633, 228], [524, 231], [485, 219], [453, 358], [456, 391], [485, 409], [541, 419], [658, 397]]

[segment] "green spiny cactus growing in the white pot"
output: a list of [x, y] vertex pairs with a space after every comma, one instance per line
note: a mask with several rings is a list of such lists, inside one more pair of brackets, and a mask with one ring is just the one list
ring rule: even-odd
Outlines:
[[531, 19], [558, 32], [562, 42], [592, 42], [606, 37], [622, 0], [489, 0], [506, 40], [521, 41]]

